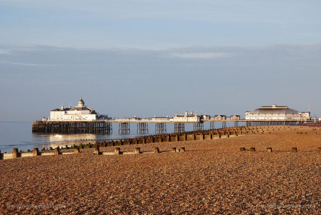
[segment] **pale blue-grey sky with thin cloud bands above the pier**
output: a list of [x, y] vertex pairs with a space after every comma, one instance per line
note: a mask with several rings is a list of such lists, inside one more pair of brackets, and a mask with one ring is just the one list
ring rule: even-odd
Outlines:
[[0, 0], [0, 121], [85, 105], [111, 117], [321, 117], [321, 1]]

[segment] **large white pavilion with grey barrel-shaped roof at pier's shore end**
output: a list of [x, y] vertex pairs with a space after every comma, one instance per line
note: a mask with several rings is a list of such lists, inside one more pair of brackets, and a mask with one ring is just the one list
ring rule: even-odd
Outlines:
[[287, 106], [277, 106], [276, 104], [245, 112], [245, 120], [305, 121], [310, 119], [310, 112], [298, 112]]

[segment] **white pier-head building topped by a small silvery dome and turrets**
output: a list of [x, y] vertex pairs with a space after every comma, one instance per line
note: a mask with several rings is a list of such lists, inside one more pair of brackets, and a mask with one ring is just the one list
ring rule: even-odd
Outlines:
[[78, 104], [72, 108], [64, 108], [64, 105], [60, 109], [56, 108], [50, 111], [50, 118], [48, 121], [72, 121], [72, 120], [96, 120], [97, 113], [93, 108], [85, 106], [85, 102], [80, 98]]

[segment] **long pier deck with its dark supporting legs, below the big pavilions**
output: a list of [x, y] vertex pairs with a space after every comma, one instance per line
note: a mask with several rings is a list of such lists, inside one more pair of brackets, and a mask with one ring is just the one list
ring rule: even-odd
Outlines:
[[134, 119], [131, 118], [115, 118], [103, 120], [70, 120], [70, 121], [54, 121], [54, 120], [35, 120], [32, 124], [32, 132], [88, 132], [88, 133], [112, 133], [112, 123], [118, 123], [118, 133], [130, 133], [130, 124], [137, 124], [137, 133], [148, 133], [148, 124], [155, 124], [155, 133], [167, 133], [166, 124], [174, 124], [174, 133], [184, 133], [185, 124], [193, 124], [193, 131], [203, 131], [204, 122], [210, 122], [210, 128], [214, 129], [214, 123], [220, 123], [222, 128], [226, 127], [226, 123], [234, 123], [238, 126], [240, 122], [246, 126], [263, 126], [263, 125], [297, 125], [297, 124], [314, 124], [314, 120], [247, 120], [247, 119], [208, 119], [200, 118], [198, 121], [174, 121], [174, 118], [166, 118], [165, 120], [153, 120], [154, 118]]

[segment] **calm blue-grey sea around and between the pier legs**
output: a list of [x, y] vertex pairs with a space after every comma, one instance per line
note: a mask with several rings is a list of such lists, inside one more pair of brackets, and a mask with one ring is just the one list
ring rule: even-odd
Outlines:
[[[239, 124], [243, 125], [243, 124]], [[118, 123], [113, 123], [113, 133], [111, 134], [62, 134], [62, 133], [32, 133], [31, 132], [32, 122], [0, 122], [0, 150], [3, 152], [12, 152], [13, 148], [18, 148], [18, 150], [27, 151], [33, 148], [49, 148], [56, 147], [58, 145], [65, 145], [64, 142], [79, 141], [80, 139], [120, 139], [120, 138], [130, 138], [140, 135], [147, 134], [137, 134], [136, 123], [130, 124], [129, 134], [118, 134]], [[227, 126], [234, 126], [234, 123], [227, 123]], [[174, 131], [174, 124], [166, 124], [167, 132], [171, 133]], [[209, 129], [210, 124], [204, 123], [204, 129]], [[222, 127], [222, 123], [215, 123], [215, 128]], [[193, 124], [185, 124], [185, 131], [192, 131]], [[148, 124], [148, 135], [155, 133], [155, 124]], [[72, 144], [72, 143], [71, 143]]]

